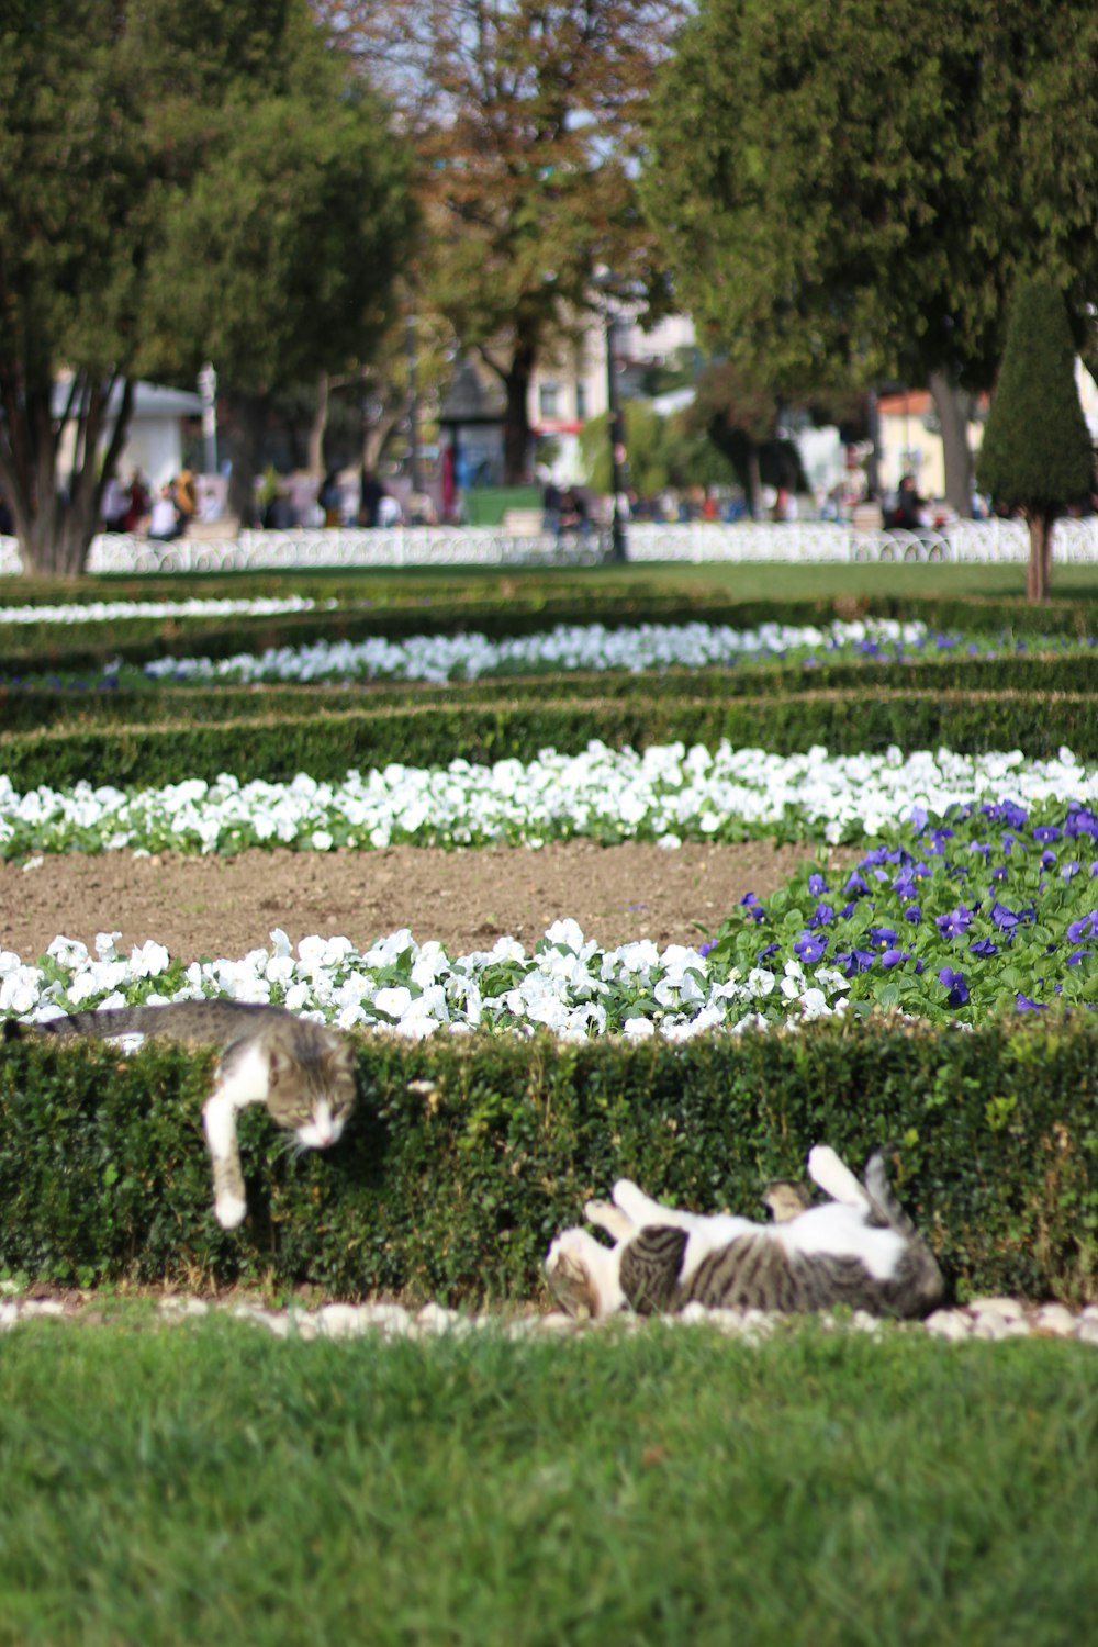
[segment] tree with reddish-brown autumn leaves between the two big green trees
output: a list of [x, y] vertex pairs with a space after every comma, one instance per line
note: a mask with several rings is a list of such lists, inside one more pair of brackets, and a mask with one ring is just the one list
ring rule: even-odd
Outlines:
[[682, 0], [328, 0], [382, 58], [421, 161], [425, 296], [505, 392], [504, 468], [525, 478], [535, 366], [598, 306], [662, 293], [635, 199], [639, 120]]

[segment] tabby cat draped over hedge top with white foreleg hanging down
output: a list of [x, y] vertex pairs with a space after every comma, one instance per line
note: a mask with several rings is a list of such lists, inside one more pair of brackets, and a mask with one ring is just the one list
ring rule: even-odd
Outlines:
[[224, 1229], [247, 1214], [237, 1146], [237, 1110], [265, 1103], [305, 1150], [336, 1143], [354, 1108], [354, 1047], [346, 1036], [285, 1006], [247, 1001], [170, 1001], [72, 1013], [44, 1023], [8, 1018], [5, 1041], [21, 1034], [117, 1036], [166, 1034], [174, 1041], [222, 1047], [214, 1089], [202, 1105], [202, 1127], [214, 1169], [214, 1212]]

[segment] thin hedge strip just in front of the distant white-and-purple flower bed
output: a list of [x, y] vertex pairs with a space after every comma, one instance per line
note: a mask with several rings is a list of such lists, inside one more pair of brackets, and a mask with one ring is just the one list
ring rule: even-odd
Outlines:
[[537, 703], [551, 698], [652, 698], [652, 684], [680, 698], [802, 697], [818, 692], [1031, 692], [1098, 695], [1098, 656], [919, 659], [912, 662], [843, 662], [803, 665], [737, 664], [726, 669], [665, 669], [632, 675], [622, 670], [543, 672], [532, 675], [431, 682], [362, 682], [357, 685], [265, 684], [147, 687], [91, 690], [0, 687], [0, 720], [7, 731], [46, 726], [151, 726], [166, 721], [202, 725], [240, 720], [257, 705], [268, 715], [347, 713], [349, 710], [407, 708], [431, 702]]

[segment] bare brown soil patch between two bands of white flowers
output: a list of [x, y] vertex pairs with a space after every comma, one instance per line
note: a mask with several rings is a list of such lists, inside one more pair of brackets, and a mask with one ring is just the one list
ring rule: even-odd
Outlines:
[[191, 962], [267, 947], [273, 927], [291, 944], [319, 934], [361, 950], [408, 927], [416, 942], [440, 939], [456, 957], [504, 934], [530, 950], [566, 916], [603, 947], [640, 937], [698, 944], [744, 893], [765, 898], [808, 856], [807, 847], [772, 842], [71, 855], [35, 868], [0, 865], [0, 947], [36, 960], [59, 934], [92, 947], [97, 932], [120, 931], [120, 949], [155, 939]]

